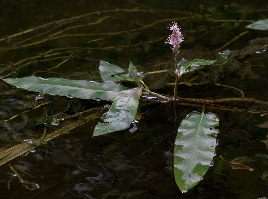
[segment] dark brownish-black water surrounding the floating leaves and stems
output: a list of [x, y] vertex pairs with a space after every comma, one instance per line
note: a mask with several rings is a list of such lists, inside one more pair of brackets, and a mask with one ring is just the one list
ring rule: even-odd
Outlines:
[[[34, 74], [43, 78], [62, 77], [98, 81], [99, 76], [96, 71], [99, 60], [123, 68], [127, 68], [131, 61], [139, 70], [163, 70], [172, 63], [173, 59], [172, 50], [165, 43], [170, 34], [166, 26], [172, 21], [178, 21], [186, 40], [181, 44], [180, 58], [216, 59], [218, 53], [216, 50], [235, 36], [247, 31], [244, 27], [250, 24], [250, 22], [235, 24], [235, 22], [216, 22], [216, 20], [268, 18], [268, 3], [265, 1], [254, 1], [254, 4], [253, 1], [235, 3], [233, 1], [221, 3], [215, 1], [1, 1], [0, 34], [1, 38], [7, 38], [0, 41], [1, 76], [8, 75], [7, 77], [15, 78]], [[87, 13], [92, 14], [81, 16]], [[74, 19], [77, 16], [80, 18]], [[60, 21], [61, 19], [68, 20]], [[100, 19], [102, 21], [97, 22]], [[11, 36], [53, 21], [55, 23], [36, 28], [29, 33]], [[145, 27], [149, 24], [153, 25]], [[115, 32], [121, 33], [107, 34]], [[250, 30], [222, 50], [243, 50], [244, 47], [249, 46], [248, 41], [264, 37], [267, 37], [267, 31]], [[50, 56], [45, 56], [46, 52], [53, 49], [52, 53], [58, 54], [50, 53], [48, 54]], [[31, 59], [35, 56], [39, 57]], [[57, 58], [60, 56], [62, 58]], [[236, 59], [241, 64], [238, 69], [222, 72], [218, 78], [214, 77], [208, 68], [204, 68], [185, 75], [182, 81], [189, 81], [195, 77], [197, 77], [195, 82], [215, 81], [218, 84], [243, 90], [247, 98], [267, 101], [267, 57], [267, 51], [251, 53]], [[28, 59], [21, 61], [24, 58]], [[62, 63], [66, 59], [68, 61]], [[247, 63], [250, 63], [250, 67]], [[47, 70], [57, 65], [59, 65], [57, 68]], [[148, 76], [144, 81], [148, 81], [148, 86], [158, 88], [160, 83], [154, 84], [155, 82], [168, 79], [161, 78], [163, 78], [161, 75]], [[168, 81], [166, 83], [173, 82], [172, 79]], [[73, 115], [82, 110], [109, 104], [105, 101], [68, 99], [49, 95], [35, 100], [37, 93], [15, 90], [15, 87], [7, 85], [4, 81], [1, 81], [0, 88], [2, 102], [0, 111], [7, 112], [7, 118], [24, 111], [18, 108], [27, 102], [37, 101], [40, 104], [57, 99], [43, 106], [43, 109], [40, 107], [28, 112], [29, 119], [46, 113], [54, 115], [64, 112]], [[156, 91], [172, 95], [173, 87], [166, 86]], [[180, 85], [178, 93], [182, 98], [240, 97], [237, 90], [212, 84], [192, 87]], [[17, 157], [9, 161], [12, 166], [21, 165], [28, 169], [25, 171], [27, 174], [19, 173], [24, 181], [37, 183], [39, 188], [36, 190], [27, 190], [14, 176], [8, 163], [3, 164], [0, 167], [1, 197], [216, 197], [222, 199], [268, 197], [268, 161], [264, 156], [268, 155], [268, 151], [266, 145], [261, 142], [266, 139], [267, 128], [254, 126], [267, 121], [267, 116], [206, 108], [205, 112], [214, 112], [220, 118], [219, 145], [216, 147], [214, 165], [197, 186], [183, 194], [174, 180], [172, 158], [165, 155], [169, 152], [173, 153], [178, 127], [178, 124], [174, 125], [174, 105], [160, 105], [148, 101], [140, 104], [139, 111], [143, 115], [141, 131], [136, 130], [131, 133], [126, 129], [92, 137], [94, 127], [100, 121], [96, 118], [72, 129], [69, 134], [38, 146], [35, 152], [30, 152], [26, 157]], [[268, 110], [267, 107], [251, 103], [232, 102], [221, 105]], [[202, 108], [177, 106], [179, 121], [191, 111], [202, 111]], [[61, 121], [56, 127], [48, 126], [48, 133], [78, 119], [77, 117]], [[22, 117], [17, 117], [8, 124], [13, 129], [13, 137], [11, 136], [6, 142], [1, 142], [1, 146], [12, 142], [12, 139], [15, 140], [20, 135], [30, 136], [24, 131], [30, 124], [27, 123], [25, 126]], [[35, 135], [41, 135], [44, 127], [42, 123], [32, 125], [31, 130]], [[10, 132], [1, 128], [1, 133], [9, 135]], [[222, 163], [220, 155], [228, 161], [238, 157], [252, 158], [251, 161], [249, 159], [244, 161], [244, 164], [252, 167], [254, 171], [232, 169], [227, 163]]]

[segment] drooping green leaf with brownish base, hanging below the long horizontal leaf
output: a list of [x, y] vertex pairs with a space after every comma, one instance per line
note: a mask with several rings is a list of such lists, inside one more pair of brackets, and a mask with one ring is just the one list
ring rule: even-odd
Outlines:
[[109, 123], [98, 123], [94, 129], [93, 136], [119, 131], [130, 125], [136, 115], [141, 90], [141, 87], [135, 87], [121, 91], [104, 118], [104, 121]]

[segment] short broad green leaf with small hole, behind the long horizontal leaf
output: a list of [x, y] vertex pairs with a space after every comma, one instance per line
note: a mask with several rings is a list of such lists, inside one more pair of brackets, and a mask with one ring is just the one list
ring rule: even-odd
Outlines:
[[121, 72], [126, 72], [119, 66], [109, 64], [106, 61], [99, 62], [99, 74], [102, 80], [106, 83], [114, 83], [122, 79], [131, 79], [129, 74], [116, 75]]

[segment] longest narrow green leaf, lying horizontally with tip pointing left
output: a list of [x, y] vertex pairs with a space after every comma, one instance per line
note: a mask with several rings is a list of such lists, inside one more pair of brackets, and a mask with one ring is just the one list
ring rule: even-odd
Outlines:
[[127, 90], [115, 83], [90, 83], [86, 80], [68, 80], [61, 78], [43, 79], [39, 77], [24, 77], [4, 79], [7, 83], [24, 90], [53, 93], [55, 95], [71, 95], [82, 99], [101, 98], [113, 101], [122, 91]]

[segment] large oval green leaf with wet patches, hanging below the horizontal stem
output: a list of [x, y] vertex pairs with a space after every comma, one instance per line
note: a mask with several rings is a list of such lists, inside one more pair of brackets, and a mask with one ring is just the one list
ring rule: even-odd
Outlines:
[[175, 181], [182, 192], [203, 178], [214, 157], [219, 118], [214, 113], [191, 112], [180, 124], [174, 148]]

